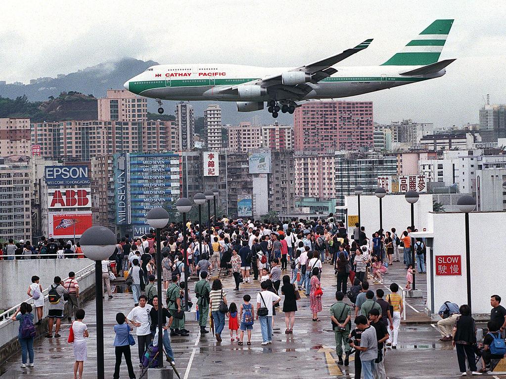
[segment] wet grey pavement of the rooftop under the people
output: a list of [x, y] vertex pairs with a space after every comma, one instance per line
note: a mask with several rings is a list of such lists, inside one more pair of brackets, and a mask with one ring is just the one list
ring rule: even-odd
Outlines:
[[[401, 287], [405, 285], [405, 270], [401, 265], [391, 266], [390, 274], [385, 277], [385, 285], [373, 285], [372, 289], [383, 288], [392, 281], [396, 281]], [[291, 270], [283, 272], [291, 275]], [[420, 289], [425, 287], [424, 276], [417, 276]], [[419, 278], [419, 279], [418, 279]], [[233, 278], [223, 280], [227, 299], [240, 305], [242, 296], [249, 294], [255, 299], [259, 291], [258, 282], [244, 284], [240, 291], [232, 291]], [[190, 284], [193, 289], [194, 284]], [[119, 287], [119, 291], [123, 287]], [[176, 355], [176, 367], [182, 379], [189, 378], [214, 378], [217, 375], [225, 377], [278, 377], [278, 378], [336, 378], [353, 377], [353, 361], [350, 366], [338, 366], [335, 354], [334, 336], [331, 330], [328, 308], [334, 303], [335, 277], [331, 265], [324, 264], [322, 274], [323, 311], [319, 317], [321, 322], [313, 322], [309, 299], [302, 295], [298, 301], [299, 311], [296, 313], [296, 324], [293, 334], [285, 334], [284, 314], [278, 312], [275, 316], [274, 336], [272, 345], [261, 346], [262, 338], [258, 321], [254, 325], [252, 344], [238, 346], [237, 342], [230, 341], [228, 332], [228, 320], [225, 321], [225, 329], [222, 333], [223, 342], [218, 343], [210, 333], [200, 336], [199, 328], [195, 321], [195, 311], [187, 313], [187, 326], [190, 331], [189, 337], [172, 338], [172, 347]], [[118, 290], [117, 289], [117, 290]], [[118, 292], [116, 290], [116, 292]], [[425, 290], [426, 292], [426, 290]], [[407, 318], [423, 314], [425, 308], [424, 299], [408, 300]], [[128, 313], [133, 306], [132, 294], [115, 293], [114, 299], [104, 300], [104, 345], [105, 345], [105, 377], [112, 378], [114, 370], [114, 339], [113, 326], [115, 314], [118, 311]], [[83, 378], [95, 378], [96, 373], [96, 326], [95, 302], [85, 304], [86, 317], [90, 338], [88, 339], [88, 361], [85, 362], [85, 374]], [[21, 354], [0, 367], [2, 379], [11, 378], [49, 378], [58, 375], [58, 378], [72, 378], [73, 353], [72, 346], [66, 342], [68, 337], [69, 323], [65, 321], [62, 337], [59, 339], [42, 338], [36, 341], [35, 367], [21, 369]], [[235, 334], [234, 334], [235, 336]], [[402, 325], [399, 332], [399, 344], [397, 350], [387, 350], [385, 367], [390, 378], [457, 378], [457, 358], [455, 350], [450, 343], [438, 341], [439, 333], [433, 324], [424, 323], [418, 325]], [[246, 339], [245, 339], [246, 341]], [[132, 356], [137, 356], [137, 345], [132, 347]], [[351, 357], [353, 359], [353, 357]], [[136, 360], [134, 361], [134, 367]], [[135, 367], [136, 368], [136, 367]], [[137, 368], [136, 368], [137, 370]], [[139, 376], [139, 372], [137, 376]], [[121, 366], [121, 378], [128, 377], [126, 366]], [[496, 376], [496, 378], [506, 376]]]

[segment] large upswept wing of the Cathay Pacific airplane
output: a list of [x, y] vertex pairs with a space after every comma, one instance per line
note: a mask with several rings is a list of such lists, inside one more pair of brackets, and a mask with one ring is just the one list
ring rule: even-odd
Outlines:
[[[301, 67], [298, 67], [295, 69], [288, 70], [288, 71], [300, 71], [300, 72], [310, 74], [311, 79], [307, 83], [302, 83], [302, 84], [297, 84], [297, 85], [283, 84], [282, 75], [281, 75], [281, 73], [279, 73], [277, 75], [273, 75], [270, 77], [252, 80], [247, 83], [239, 84], [237, 86], [223, 88], [222, 90], [220, 90], [220, 92], [221, 93], [234, 93], [235, 91], [237, 91], [237, 87], [239, 87], [239, 86], [259, 85], [259, 86], [267, 88], [268, 91], [285, 92], [286, 94], [291, 94], [291, 96], [289, 98], [291, 98], [293, 96], [302, 98], [307, 93], [309, 93], [311, 91], [311, 86], [308, 83], [316, 84], [320, 80], [328, 78], [330, 75], [335, 74], [336, 72], [338, 72], [338, 70], [334, 69], [332, 67], [333, 65], [335, 65], [336, 63], [339, 63], [339, 62], [345, 60], [346, 58], [351, 57], [355, 53], [367, 48], [369, 46], [369, 44], [371, 43], [371, 41], [372, 41], [372, 38], [366, 39], [365, 41], [358, 44], [357, 46], [355, 46], [353, 48], [349, 48], [347, 50], [344, 50], [342, 53], [340, 53], [338, 55], [328, 57], [323, 60], [316, 61], [316, 62], [310, 63], [308, 65], [305, 65], [305, 66], [301, 66]], [[278, 98], [280, 97], [279, 93], [278, 93], [277, 97]]]

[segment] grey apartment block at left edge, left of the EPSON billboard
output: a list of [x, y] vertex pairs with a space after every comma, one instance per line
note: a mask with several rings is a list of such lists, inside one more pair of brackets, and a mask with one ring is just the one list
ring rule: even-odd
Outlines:
[[0, 236], [30, 240], [31, 168], [27, 161], [0, 158]]

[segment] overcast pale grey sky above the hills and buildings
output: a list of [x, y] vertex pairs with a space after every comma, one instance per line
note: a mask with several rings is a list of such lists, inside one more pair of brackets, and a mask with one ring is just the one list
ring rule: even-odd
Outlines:
[[17, 1], [0, 11], [0, 80], [8, 82], [122, 57], [300, 66], [366, 38], [374, 41], [342, 65], [377, 65], [435, 19], [452, 18], [440, 59], [457, 61], [444, 77], [349, 99], [374, 101], [377, 122], [438, 126], [478, 122], [487, 93], [506, 103], [503, 1]]

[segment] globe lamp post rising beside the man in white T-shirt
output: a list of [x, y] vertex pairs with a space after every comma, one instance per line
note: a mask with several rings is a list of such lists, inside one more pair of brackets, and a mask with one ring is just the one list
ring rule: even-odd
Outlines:
[[[156, 231], [156, 281], [158, 289], [158, 346], [163, 346], [162, 300], [161, 300], [161, 238], [160, 229], [168, 224], [168, 212], [156, 207], [147, 214], [148, 224]], [[158, 368], [163, 368], [163, 359], [158, 359]]]

